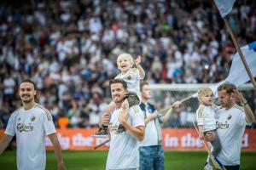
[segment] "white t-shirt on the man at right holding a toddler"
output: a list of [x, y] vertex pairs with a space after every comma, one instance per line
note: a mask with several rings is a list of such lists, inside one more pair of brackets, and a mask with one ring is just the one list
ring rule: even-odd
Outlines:
[[240, 164], [241, 139], [247, 125], [243, 107], [234, 105], [229, 110], [216, 112], [217, 133], [221, 143], [218, 160], [225, 166]]

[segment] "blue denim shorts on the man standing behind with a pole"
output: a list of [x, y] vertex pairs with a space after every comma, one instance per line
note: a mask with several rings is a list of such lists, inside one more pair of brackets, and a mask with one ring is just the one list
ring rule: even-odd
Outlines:
[[165, 154], [162, 145], [142, 146], [140, 151], [139, 170], [164, 170]]

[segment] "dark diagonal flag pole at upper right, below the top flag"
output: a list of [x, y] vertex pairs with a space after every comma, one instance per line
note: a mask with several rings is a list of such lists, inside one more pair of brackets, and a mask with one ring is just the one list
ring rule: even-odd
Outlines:
[[256, 89], [256, 82], [255, 82], [255, 80], [254, 80], [252, 71], [250, 71], [249, 66], [248, 66], [248, 64], [247, 64], [247, 61], [246, 61], [246, 59], [244, 58], [243, 54], [241, 53], [241, 48], [240, 48], [239, 45], [238, 45], [238, 42], [237, 42], [236, 37], [235, 37], [235, 35], [234, 35], [234, 32], [232, 31], [232, 29], [231, 29], [231, 27], [230, 27], [230, 23], [229, 23], [229, 21], [227, 20], [226, 17], [224, 17], [224, 24], [225, 24], [225, 26], [228, 28], [228, 31], [229, 31], [229, 33], [230, 33], [230, 37], [231, 37], [233, 43], [235, 44], [236, 51], [238, 52], [238, 54], [239, 54], [239, 56], [240, 56], [240, 58], [241, 58], [242, 64], [244, 65], [244, 67], [245, 67], [245, 69], [246, 69], [246, 71], [247, 71], [247, 74], [248, 74], [248, 76], [249, 76], [251, 82], [253, 83], [254, 89]]

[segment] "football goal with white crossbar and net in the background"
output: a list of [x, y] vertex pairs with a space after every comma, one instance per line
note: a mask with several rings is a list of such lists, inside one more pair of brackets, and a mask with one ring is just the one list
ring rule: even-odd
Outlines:
[[[150, 84], [152, 91], [152, 102], [159, 111], [162, 111], [167, 106], [172, 105], [177, 100], [187, 98], [192, 94], [196, 94], [198, 89], [211, 87], [213, 84]], [[248, 104], [254, 111], [254, 90], [251, 83], [241, 85], [238, 90], [247, 99]], [[218, 105], [218, 99], [214, 102]], [[195, 120], [195, 111], [198, 108], [198, 99], [191, 98], [183, 102], [183, 105], [173, 111], [166, 127], [193, 127]]]

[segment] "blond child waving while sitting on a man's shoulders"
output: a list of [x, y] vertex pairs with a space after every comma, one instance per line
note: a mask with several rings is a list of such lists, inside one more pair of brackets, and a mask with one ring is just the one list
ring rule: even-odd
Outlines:
[[[135, 65], [137, 66], [137, 68], [132, 68], [132, 65], [134, 65], [134, 61], [131, 57], [131, 54], [120, 54], [117, 58], [117, 65], [121, 72], [115, 78], [122, 79], [127, 83], [129, 93], [126, 94], [124, 104], [128, 105], [129, 107], [140, 104], [140, 80], [145, 77], [145, 71], [140, 65], [141, 61], [141, 56], [138, 56], [135, 60]], [[116, 107], [117, 105], [114, 102], [111, 102], [107, 106], [106, 111], [102, 116], [109, 116]], [[122, 132], [125, 129], [123, 126], [120, 125], [118, 130]], [[106, 122], [106, 124], [102, 124], [100, 129], [96, 133], [92, 134], [92, 136], [99, 138], [108, 137], [108, 122]]]

